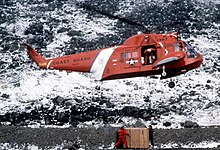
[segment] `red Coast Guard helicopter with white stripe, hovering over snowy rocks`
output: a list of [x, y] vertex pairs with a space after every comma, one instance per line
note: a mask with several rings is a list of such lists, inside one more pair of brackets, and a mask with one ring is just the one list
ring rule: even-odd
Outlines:
[[[117, 19], [120, 19], [117, 17]], [[149, 75], [177, 76], [202, 64], [202, 55], [176, 32], [137, 34], [121, 45], [46, 59], [24, 43], [29, 57], [42, 69], [93, 73], [97, 80]], [[169, 87], [175, 83], [170, 82]]]

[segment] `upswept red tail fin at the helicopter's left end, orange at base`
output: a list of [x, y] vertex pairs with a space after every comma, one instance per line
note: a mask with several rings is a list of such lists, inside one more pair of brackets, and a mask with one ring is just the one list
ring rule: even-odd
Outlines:
[[22, 43], [21, 46], [27, 49], [27, 54], [29, 57], [40, 67], [46, 68], [48, 64], [48, 60], [41, 56], [39, 53], [36, 52], [31, 46], [26, 43]]

